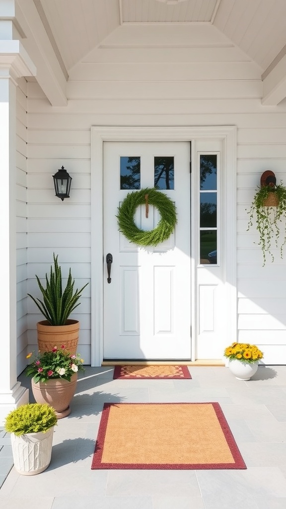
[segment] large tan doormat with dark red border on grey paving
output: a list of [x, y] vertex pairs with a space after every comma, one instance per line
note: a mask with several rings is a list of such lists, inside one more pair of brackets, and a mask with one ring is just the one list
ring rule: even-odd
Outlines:
[[95, 469], [245, 469], [218, 403], [105, 403]]

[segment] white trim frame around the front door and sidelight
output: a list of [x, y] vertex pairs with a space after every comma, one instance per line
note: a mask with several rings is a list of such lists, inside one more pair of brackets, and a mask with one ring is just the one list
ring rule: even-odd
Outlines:
[[[91, 127], [91, 365], [103, 360], [103, 143], [104, 142], [191, 142], [195, 139], [220, 138], [224, 144], [225, 171], [225, 285], [229, 308], [225, 312], [227, 330], [237, 336], [236, 290], [236, 126], [214, 127]], [[191, 215], [197, 217], [194, 200], [194, 175], [191, 175]], [[197, 235], [191, 231], [191, 296], [195, 302]], [[191, 309], [191, 351], [195, 360], [196, 309]]]

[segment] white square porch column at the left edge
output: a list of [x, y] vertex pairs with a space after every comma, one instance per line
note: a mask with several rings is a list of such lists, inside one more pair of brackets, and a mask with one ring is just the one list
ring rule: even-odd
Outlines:
[[[12, 21], [0, 7], [0, 426], [6, 415], [28, 402], [28, 390], [16, 374], [16, 87], [17, 78], [36, 74], [36, 68], [17, 40], [11, 40]], [[9, 13], [11, 16], [11, 13]], [[12, 12], [13, 14], [13, 12]], [[13, 17], [13, 16], [11, 16]]]

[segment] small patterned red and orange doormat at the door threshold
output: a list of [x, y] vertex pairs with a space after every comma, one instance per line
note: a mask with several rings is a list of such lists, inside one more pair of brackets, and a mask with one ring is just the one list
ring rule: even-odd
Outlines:
[[187, 366], [153, 364], [150, 366], [115, 366], [113, 379], [184, 379], [192, 378]]

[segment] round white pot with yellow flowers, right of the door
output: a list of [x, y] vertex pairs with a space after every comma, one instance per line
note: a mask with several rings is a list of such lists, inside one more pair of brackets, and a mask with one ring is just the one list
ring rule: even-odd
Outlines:
[[224, 350], [224, 357], [228, 359], [228, 367], [238, 380], [250, 380], [258, 370], [263, 353], [255, 345], [233, 343]]

